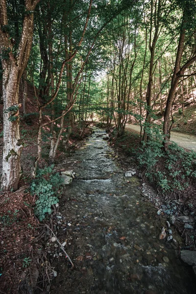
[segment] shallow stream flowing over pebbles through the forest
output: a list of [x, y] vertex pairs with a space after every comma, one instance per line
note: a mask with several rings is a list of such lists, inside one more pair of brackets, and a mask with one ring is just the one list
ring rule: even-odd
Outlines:
[[175, 245], [159, 240], [163, 223], [138, 178], [127, 183], [104, 136], [96, 128], [69, 162], [76, 179], [60, 200], [58, 236], [75, 268], [65, 257], [53, 261], [52, 294], [196, 293]]

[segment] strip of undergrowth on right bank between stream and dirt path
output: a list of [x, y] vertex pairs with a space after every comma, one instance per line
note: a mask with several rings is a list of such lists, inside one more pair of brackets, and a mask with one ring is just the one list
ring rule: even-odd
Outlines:
[[174, 191], [180, 194], [196, 183], [196, 152], [186, 151], [175, 143], [171, 143], [164, 152], [161, 138], [157, 139], [157, 131], [151, 140], [142, 144], [135, 133], [125, 132], [119, 138], [115, 138], [115, 133], [113, 135], [115, 146], [127, 155], [133, 155], [144, 177], [160, 193], [166, 195]]

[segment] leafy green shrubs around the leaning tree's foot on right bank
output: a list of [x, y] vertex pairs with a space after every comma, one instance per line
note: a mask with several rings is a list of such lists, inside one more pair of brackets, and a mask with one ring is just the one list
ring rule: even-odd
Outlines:
[[163, 193], [184, 191], [196, 180], [196, 152], [187, 152], [174, 143], [165, 153], [160, 141], [149, 140], [142, 144], [137, 159], [145, 167], [148, 180], [156, 183]]

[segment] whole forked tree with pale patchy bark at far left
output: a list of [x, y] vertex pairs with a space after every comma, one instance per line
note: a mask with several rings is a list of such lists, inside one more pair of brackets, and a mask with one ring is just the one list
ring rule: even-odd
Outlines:
[[[11, 36], [6, 0], [0, 0], [0, 54], [3, 92], [3, 160], [1, 188], [17, 190], [21, 175], [23, 142], [19, 133], [19, 85], [25, 71], [33, 37], [34, 9], [39, 0], [25, 0], [20, 41]], [[18, 43], [18, 44], [17, 44]]]

